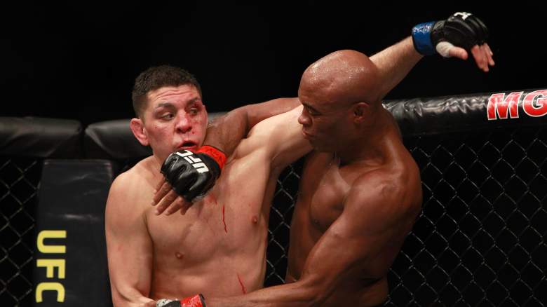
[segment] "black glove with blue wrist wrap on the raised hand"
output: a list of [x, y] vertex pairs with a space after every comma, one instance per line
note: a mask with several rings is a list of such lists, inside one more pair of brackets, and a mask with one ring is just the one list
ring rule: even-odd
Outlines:
[[[446, 41], [468, 52], [475, 45], [482, 45], [488, 39], [484, 22], [471, 13], [458, 12], [447, 20], [426, 22], [412, 29], [414, 48], [422, 55], [436, 53], [438, 43]], [[447, 57], [447, 53], [442, 54]]]

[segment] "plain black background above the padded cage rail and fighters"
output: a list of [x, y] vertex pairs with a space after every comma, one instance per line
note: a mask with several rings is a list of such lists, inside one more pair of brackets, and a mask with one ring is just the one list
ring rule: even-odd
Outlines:
[[208, 111], [292, 97], [319, 57], [344, 48], [372, 55], [455, 11], [485, 21], [496, 66], [484, 74], [470, 60], [428, 57], [388, 99], [547, 87], [545, 5], [384, 2], [20, 2], [0, 13], [0, 116], [84, 125], [133, 117], [133, 81], [156, 64], [195, 74]]

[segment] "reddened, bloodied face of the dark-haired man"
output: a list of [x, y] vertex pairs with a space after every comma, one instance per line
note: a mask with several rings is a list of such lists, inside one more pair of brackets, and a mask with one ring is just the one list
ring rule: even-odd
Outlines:
[[152, 90], [147, 100], [142, 115], [143, 132], [155, 156], [163, 161], [173, 151], [201, 146], [207, 129], [207, 111], [194, 86]]

